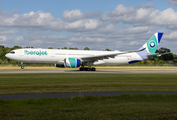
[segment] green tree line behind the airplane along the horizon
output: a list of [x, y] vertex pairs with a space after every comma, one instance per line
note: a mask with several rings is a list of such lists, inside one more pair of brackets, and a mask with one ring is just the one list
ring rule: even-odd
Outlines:
[[[21, 46], [14, 46], [12, 48], [9, 48], [9, 47], [5, 47], [3, 45], [0, 45], [0, 65], [20, 64], [20, 62], [12, 61], [12, 60], [6, 58], [5, 55], [12, 50], [21, 49], [21, 48], [22, 48]], [[27, 47], [23, 47], [23, 48], [34, 48], [34, 47], [27, 46]], [[48, 49], [53, 49], [53, 48], [48, 47]], [[58, 49], [79, 50], [77, 47], [75, 47], [75, 48], [63, 47], [63, 48], [58, 48]], [[84, 50], [90, 50], [90, 49], [88, 47], [85, 47]], [[111, 51], [111, 50], [106, 48], [104, 51]], [[160, 49], [156, 50], [156, 53], [168, 53], [168, 52], [171, 52], [170, 49], [164, 48], [164, 47], [161, 47]], [[141, 61], [141, 62], [138, 62], [135, 64], [154, 64], [154, 65], [156, 65], [156, 64], [175, 64], [176, 62], [177, 62], [177, 55], [172, 53], [172, 54], [166, 54], [166, 55], [163, 55], [163, 56], [160, 56], [157, 58], [153, 58], [150, 60]], [[31, 65], [39, 65], [39, 64], [31, 64]], [[50, 64], [45, 64], [45, 65], [50, 65]]]

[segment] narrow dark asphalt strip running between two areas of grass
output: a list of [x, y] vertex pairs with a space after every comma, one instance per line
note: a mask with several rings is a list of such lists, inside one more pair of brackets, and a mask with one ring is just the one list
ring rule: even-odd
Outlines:
[[23, 100], [23, 99], [68, 98], [68, 97], [74, 97], [74, 96], [121, 95], [121, 94], [177, 94], [177, 92], [169, 92], [169, 91], [116, 91], [116, 92], [21, 94], [21, 95], [0, 95], [0, 99], [2, 99], [2, 100]]

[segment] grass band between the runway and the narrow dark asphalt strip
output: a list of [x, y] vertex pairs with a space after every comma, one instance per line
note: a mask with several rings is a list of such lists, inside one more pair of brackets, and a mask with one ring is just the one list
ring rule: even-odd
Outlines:
[[177, 91], [177, 74], [0, 74], [0, 94]]

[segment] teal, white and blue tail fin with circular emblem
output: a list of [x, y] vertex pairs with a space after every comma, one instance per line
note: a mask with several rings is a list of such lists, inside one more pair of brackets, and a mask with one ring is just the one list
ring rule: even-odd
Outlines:
[[144, 51], [138, 52], [142, 59], [148, 59], [148, 54], [156, 54], [156, 49], [160, 44], [163, 33], [155, 33], [140, 49], [145, 49]]

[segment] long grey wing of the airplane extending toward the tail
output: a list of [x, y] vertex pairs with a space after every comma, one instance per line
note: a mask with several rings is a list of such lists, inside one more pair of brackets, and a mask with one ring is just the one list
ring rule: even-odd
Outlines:
[[122, 55], [122, 54], [127, 54], [127, 53], [132, 53], [132, 52], [140, 52], [145, 50], [146, 48], [143, 48], [138, 51], [129, 51], [129, 52], [122, 52], [122, 53], [112, 53], [112, 54], [103, 54], [103, 55], [95, 55], [95, 56], [89, 56], [89, 57], [81, 57], [83, 62], [95, 62], [98, 60], [103, 60], [103, 59], [109, 59], [109, 58], [115, 58], [117, 55]]

